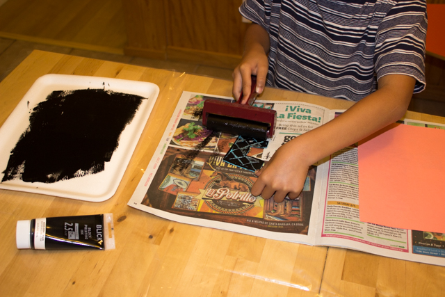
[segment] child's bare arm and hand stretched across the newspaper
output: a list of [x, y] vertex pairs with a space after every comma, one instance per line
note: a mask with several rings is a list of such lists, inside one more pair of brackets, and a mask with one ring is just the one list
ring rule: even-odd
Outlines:
[[388, 74], [378, 81], [378, 90], [353, 105], [325, 125], [282, 145], [262, 168], [252, 195], [282, 202], [295, 199], [302, 191], [309, 166], [343, 147], [362, 140], [375, 131], [400, 120], [410, 104], [415, 79]]

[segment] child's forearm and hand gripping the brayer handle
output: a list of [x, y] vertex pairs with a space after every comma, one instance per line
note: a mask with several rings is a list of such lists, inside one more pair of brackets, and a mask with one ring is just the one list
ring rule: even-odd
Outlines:
[[245, 103], [250, 95], [252, 81], [250, 75], [257, 76], [257, 93], [261, 94], [266, 85], [268, 71], [267, 54], [270, 49], [269, 34], [258, 24], [252, 24], [245, 32], [244, 52], [241, 63], [235, 68], [234, 86], [232, 93], [238, 99], [243, 90], [242, 102]]

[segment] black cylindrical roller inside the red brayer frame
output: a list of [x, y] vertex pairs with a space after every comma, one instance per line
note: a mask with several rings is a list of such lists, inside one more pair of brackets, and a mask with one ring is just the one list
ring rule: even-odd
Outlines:
[[224, 115], [209, 114], [207, 117], [206, 127], [212, 131], [266, 139], [269, 125], [253, 120], [229, 118]]

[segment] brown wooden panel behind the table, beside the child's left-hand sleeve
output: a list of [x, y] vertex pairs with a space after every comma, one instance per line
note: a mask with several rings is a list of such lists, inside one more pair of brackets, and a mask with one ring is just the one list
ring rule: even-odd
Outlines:
[[125, 54], [234, 67], [248, 24], [242, 0], [124, 0]]

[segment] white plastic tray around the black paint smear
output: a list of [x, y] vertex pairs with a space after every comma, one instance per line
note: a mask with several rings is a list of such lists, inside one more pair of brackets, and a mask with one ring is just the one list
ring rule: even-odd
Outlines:
[[[29, 115], [33, 108], [43, 102], [54, 90], [88, 88], [112, 90], [147, 98], [143, 100], [133, 120], [120, 134], [118, 148], [113, 152], [111, 160], [105, 163], [104, 171], [54, 183], [23, 182], [21, 179], [1, 182], [3, 171], [8, 166], [11, 150], [29, 127]], [[0, 127], [0, 188], [91, 202], [101, 202], [111, 198], [119, 186], [158, 95], [158, 86], [143, 81], [64, 74], [47, 74], [40, 77]]]

